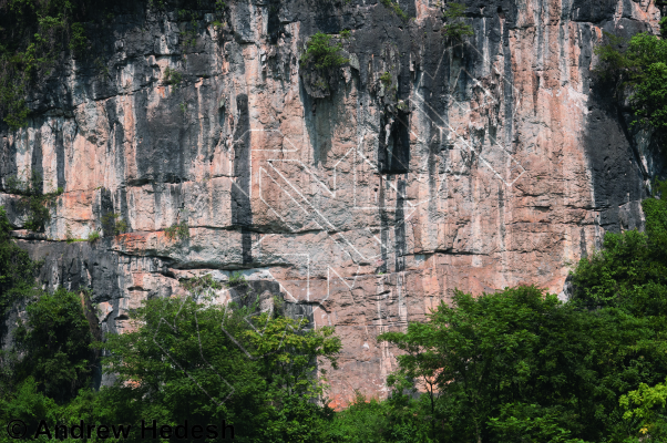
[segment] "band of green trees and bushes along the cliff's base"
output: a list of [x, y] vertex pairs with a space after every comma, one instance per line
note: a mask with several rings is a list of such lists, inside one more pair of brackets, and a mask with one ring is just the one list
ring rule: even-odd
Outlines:
[[[187, 295], [146, 300], [127, 311], [126, 333], [94, 344], [116, 377], [94, 391], [80, 296], [35, 296], [30, 275], [4, 278], [16, 289], [9, 303], [29, 305], [1, 356], [0, 420], [30, 429], [37, 416], [70, 426], [225, 420], [242, 442], [664, 442], [667, 200], [643, 208], [645, 231], [609, 233], [579, 261], [571, 301], [534, 286], [456, 291], [428, 321], [381, 334], [398, 358], [388, 399], [357, 392], [341, 411], [327, 405], [325, 371], [337, 368], [340, 339], [286, 316], [284, 303], [217, 303], [225, 288], [211, 275], [182, 280]], [[2, 239], [0, 276], [12, 276], [27, 258]], [[253, 295], [240, 274], [227, 287]]]

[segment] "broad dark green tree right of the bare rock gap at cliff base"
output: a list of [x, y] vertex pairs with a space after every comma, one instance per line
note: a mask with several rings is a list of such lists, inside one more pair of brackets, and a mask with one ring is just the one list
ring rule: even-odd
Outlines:
[[627, 436], [619, 396], [667, 374], [663, 322], [581, 310], [535, 287], [456, 292], [428, 322], [381, 339], [404, 352], [397, 379], [434, 382], [431, 437], [443, 442]]

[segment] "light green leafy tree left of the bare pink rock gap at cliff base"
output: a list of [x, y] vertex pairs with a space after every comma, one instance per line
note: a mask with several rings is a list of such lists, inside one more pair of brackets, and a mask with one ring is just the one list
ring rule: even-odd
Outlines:
[[318, 441], [327, 410], [312, 403], [324, 387], [318, 358], [335, 362], [330, 329], [305, 331], [285, 317], [218, 306], [202, 288], [193, 297], [148, 300], [132, 315], [136, 329], [109, 336], [106, 372], [116, 421], [136, 416], [177, 424], [225, 419], [239, 441]]

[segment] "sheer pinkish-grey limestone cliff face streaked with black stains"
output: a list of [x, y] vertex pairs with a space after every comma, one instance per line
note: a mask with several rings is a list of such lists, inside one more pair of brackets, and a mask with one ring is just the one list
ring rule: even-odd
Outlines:
[[[386, 394], [394, 351], [377, 334], [423, 320], [455, 288], [565, 296], [568, 264], [606, 230], [642, 228], [639, 202], [663, 172], [650, 134], [592, 75], [603, 31], [655, 32], [660, 11], [465, 3], [464, 42], [443, 38], [435, 0], [401, 0], [411, 20], [376, 0], [233, 0], [220, 24], [123, 6], [89, 32], [94, 62], [68, 59], [34, 93], [29, 126], [0, 127], [4, 185], [35, 171], [44, 192], [64, 188], [43, 236], [17, 234], [47, 259], [41, 280], [92, 288], [109, 333], [142, 300], [182, 290], [178, 278], [240, 271], [336, 327], [338, 405], [356, 389]], [[300, 68], [317, 31], [349, 63]], [[20, 229], [17, 198], [0, 205]], [[183, 222], [189, 237], [165, 235]], [[92, 245], [63, 241], [93, 230], [104, 237]]]

